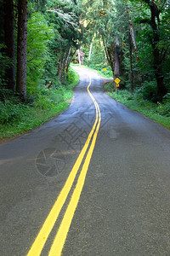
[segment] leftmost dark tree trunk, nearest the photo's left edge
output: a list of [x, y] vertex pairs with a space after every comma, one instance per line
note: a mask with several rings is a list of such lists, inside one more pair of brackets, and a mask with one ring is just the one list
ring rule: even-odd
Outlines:
[[4, 0], [4, 37], [5, 54], [11, 59], [11, 65], [5, 71], [6, 87], [15, 90], [15, 52], [14, 52], [14, 6], [13, 0]]

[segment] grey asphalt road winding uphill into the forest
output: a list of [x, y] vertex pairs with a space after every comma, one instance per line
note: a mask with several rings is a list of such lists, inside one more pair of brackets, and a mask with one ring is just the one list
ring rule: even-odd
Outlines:
[[0, 145], [0, 255], [168, 256], [170, 131], [77, 71], [70, 108]]

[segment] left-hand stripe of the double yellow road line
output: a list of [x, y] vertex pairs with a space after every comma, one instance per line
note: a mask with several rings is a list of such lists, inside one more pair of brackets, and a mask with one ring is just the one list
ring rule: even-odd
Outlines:
[[[91, 85], [91, 79], [90, 82], [88, 84], [88, 93], [89, 95], [91, 95], [90, 91], [89, 91], [89, 86]], [[93, 96], [91, 95], [92, 99]], [[98, 113], [98, 106], [94, 101], [94, 105], [96, 108], [96, 119], [94, 122], [94, 126], [92, 128], [92, 130], [90, 131], [89, 135], [88, 135], [88, 139], [86, 141], [86, 143], [84, 144], [84, 147], [82, 148], [81, 153], [79, 154], [77, 161], [75, 163], [75, 165], [73, 166], [71, 173], [69, 175], [69, 177], [67, 178], [65, 185], [63, 187], [63, 189], [60, 191], [59, 196], [57, 198], [57, 200], [54, 203], [54, 206], [52, 207], [51, 211], [48, 214], [48, 217], [46, 218], [44, 224], [42, 225], [42, 229], [39, 231], [35, 241], [33, 242], [31, 249], [29, 251], [29, 253], [27, 254], [27, 256], [39, 256], [42, 252], [42, 248], [45, 245], [45, 242], [48, 239], [48, 236], [51, 232], [51, 230], [54, 227], [54, 224], [59, 216], [59, 212], [61, 211], [61, 208], [63, 207], [63, 205], [65, 204], [66, 198], [71, 190], [71, 186], [75, 180], [75, 177], [77, 176], [77, 172], [79, 170], [79, 167], [82, 164], [82, 160], [84, 157], [84, 154], [86, 154], [86, 151], [88, 149], [88, 145], [91, 141], [91, 138], [94, 135], [94, 131], [96, 129], [96, 125], [98, 123], [98, 119], [99, 119], [99, 113]], [[56, 255], [56, 254], [55, 254]]]

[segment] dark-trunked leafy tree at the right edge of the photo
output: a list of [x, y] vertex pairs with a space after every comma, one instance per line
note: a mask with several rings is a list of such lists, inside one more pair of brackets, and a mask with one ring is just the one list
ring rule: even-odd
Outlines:
[[136, 25], [139, 24], [137, 41], [140, 70], [148, 82], [156, 83], [156, 96], [154, 98], [155, 101], [161, 102], [163, 96], [167, 94], [167, 87], [164, 83], [164, 76], [167, 77], [167, 73], [163, 72], [169, 49], [166, 35], [168, 22], [166, 28], [163, 26], [165, 13], [168, 9], [167, 1], [142, 0], [141, 3], [139, 0], [131, 0], [131, 2], [133, 3], [133, 20]]

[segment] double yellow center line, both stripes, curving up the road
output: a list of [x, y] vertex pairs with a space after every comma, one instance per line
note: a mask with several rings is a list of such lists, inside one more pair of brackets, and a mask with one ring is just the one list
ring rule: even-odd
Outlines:
[[[74, 183], [75, 177], [77, 176], [77, 172], [82, 164], [82, 160], [84, 158], [84, 155], [87, 153], [87, 156], [84, 160], [82, 171], [80, 172], [80, 175], [77, 180], [76, 188], [74, 189], [72, 195], [71, 195], [71, 201], [68, 204], [68, 207], [66, 208], [64, 218], [61, 221], [61, 224], [59, 226], [59, 230], [57, 231], [57, 234], [54, 238], [54, 242], [52, 244], [52, 247], [48, 253], [48, 256], [59, 256], [62, 252], [62, 249], [65, 244], [65, 239], [67, 236], [67, 233], [71, 226], [71, 221], [74, 216], [74, 213], [77, 208], [78, 201], [80, 199], [80, 195], [82, 193], [82, 188], [85, 182], [85, 178], [88, 172], [88, 166], [92, 157], [92, 154], [94, 152], [94, 146], [96, 143], [96, 138], [99, 132], [99, 126], [101, 122], [101, 113], [99, 111], [99, 105], [94, 99], [94, 96], [91, 94], [89, 87], [91, 85], [91, 78], [90, 82], [88, 84], [88, 94], [92, 98], [94, 102], [94, 106], [96, 109], [96, 119], [94, 122], [94, 126], [92, 130], [90, 131], [88, 135], [88, 139], [86, 143], [84, 144], [84, 147], [82, 148], [81, 153], [79, 154], [77, 161], [75, 165], [73, 166], [71, 173], [69, 177], [67, 178], [65, 182], [65, 186], [61, 190], [59, 197], [57, 198], [57, 201], [54, 203], [54, 207], [52, 207], [51, 211], [48, 214], [48, 217], [46, 218], [44, 224], [42, 225], [42, 229], [39, 231], [36, 240], [31, 246], [31, 249], [27, 256], [39, 256], [42, 253], [42, 249], [45, 245], [45, 242], [48, 239], [48, 236], [51, 232], [51, 230], [54, 227], [54, 224], [59, 216], [59, 212], [61, 211], [61, 208], [64, 206], [65, 201], [67, 199], [67, 196], [71, 190], [72, 184]], [[91, 142], [91, 144], [90, 144]], [[88, 146], [90, 145], [89, 149]]]

